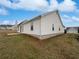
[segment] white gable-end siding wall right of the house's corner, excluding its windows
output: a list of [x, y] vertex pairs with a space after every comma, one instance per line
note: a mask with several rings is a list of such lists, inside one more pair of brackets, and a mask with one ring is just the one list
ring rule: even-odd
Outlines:
[[[51, 30], [54, 24], [54, 31]], [[59, 28], [61, 29], [59, 31]], [[41, 18], [41, 35], [64, 33], [64, 27], [60, 22], [60, 18], [56, 12], [44, 15]]]

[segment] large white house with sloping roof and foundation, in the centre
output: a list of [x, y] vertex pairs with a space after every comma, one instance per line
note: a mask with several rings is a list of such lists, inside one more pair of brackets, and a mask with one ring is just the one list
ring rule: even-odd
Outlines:
[[19, 33], [30, 34], [39, 39], [50, 38], [64, 33], [64, 26], [58, 10], [47, 12], [18, 24]]

